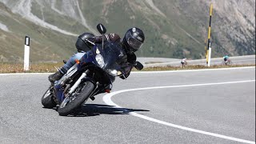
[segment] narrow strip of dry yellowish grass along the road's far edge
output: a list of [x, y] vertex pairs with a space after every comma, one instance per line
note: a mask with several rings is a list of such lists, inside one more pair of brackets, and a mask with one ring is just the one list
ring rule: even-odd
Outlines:
[[[30, 65], [30, 70], [23, 70], [23, 64], [17, 63], [0, 63], [0, 74], [6, 73], [54, 73], [56, 72], [55, 67], [61, 67], [62, 62], [59, 63], [39, 63]], [[244, 67], [244, 66], [255, 66], [255, 64], [250, 65], [232, 65], [232, 66], [202, 66], [202, 65], [193, 65], [186, 66], [181, 68], [180, 66], [154, 66], [154, 67], [145, 67], [142, 71], [158, 71], [158, 70], [198, 70], [198, 69], [218, 69], [218, 68], [228, 68], [228, 67]], [[137, 71], [136, 69], [133, 69]]]

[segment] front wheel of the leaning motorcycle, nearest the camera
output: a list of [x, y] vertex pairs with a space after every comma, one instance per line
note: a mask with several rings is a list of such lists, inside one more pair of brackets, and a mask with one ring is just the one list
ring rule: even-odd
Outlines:
[[94, 84], [90, 81], [83, 82], [78, 86], [73, 94], [66, 97], [58, 107], [58, 114], [66, 116], [81, 106], [90, 97], [90, 93], [94, 90]]

